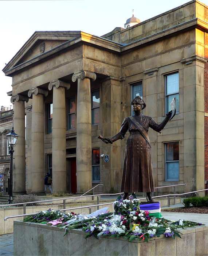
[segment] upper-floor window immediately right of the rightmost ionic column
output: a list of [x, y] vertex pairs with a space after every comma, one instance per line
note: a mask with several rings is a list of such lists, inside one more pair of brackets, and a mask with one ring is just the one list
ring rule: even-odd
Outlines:
[[91, 116], [92, 116], [92, 124], [100, 123], [100, 92], [99, 90], [91, 92]]

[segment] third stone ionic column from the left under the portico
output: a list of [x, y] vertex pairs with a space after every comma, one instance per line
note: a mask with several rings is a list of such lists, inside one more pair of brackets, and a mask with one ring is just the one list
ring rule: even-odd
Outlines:
[[52, 173], [53, 191], [66, 191], [66, 103], [65, 88], [70, 84], [55, 80], [48, 85], [53, 89]]

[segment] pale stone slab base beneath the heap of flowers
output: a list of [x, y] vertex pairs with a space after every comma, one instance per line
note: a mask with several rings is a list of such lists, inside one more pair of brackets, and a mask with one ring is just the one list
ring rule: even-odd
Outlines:
[[96, 256], [182, 256], [207, 255], [208, 227], [179, 229], [182, 239], [153, 237], [148, 243], [101, 236], [83, 238], [82, 230], [69, 230], [44, 224], [14, 221], [14, 255], [96, 255]]

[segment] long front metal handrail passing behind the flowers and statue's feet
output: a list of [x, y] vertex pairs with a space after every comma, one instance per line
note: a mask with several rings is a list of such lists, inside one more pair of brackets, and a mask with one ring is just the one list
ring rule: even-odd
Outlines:
[[[201, 191], [206, 191], [206, 190], [208, 190], [208, 188], [207, 189], [197, 190], [197, 191], [192, 191], [192, 192], [187, 192], [187, 193], [182, 193], [182, 194], [169, 194], [169, 195], [162, 195], [162, 196], [153, 196], [153, 198], [169, 197], [169, 196], [181, 196], [181, 195], [187, 195], [187, 194], [201, 192]], [[122, 193], [111, 194], [111, 195], [118, 195], [118, 194], [122, 194]], [[144, 200], [144, 199], [146, 199], [146, 198], [140, 198], [140, 200]], [[71, 211], [71, 210], [82, 209], [82, 208], [89, 208], [89, 207], [95, 207], [95, 206], [99, 207], [99, 206], [104, 206], [104, 205], [113, 204], [113, 203], [111, 202], [111, 203], [105, 203], [105, 204], [93, 204], [91, 206], [81, 206], [81, 207], [75, 207], [75, 208], [69, 208], [69, 209], [62, 209], [62, 210], [58, 210], [58, 211]], [[7, 219], [10, 219], [10, 218], [24, 217], [24, 216], [30, 216], [30, 215], [34, 215], [34, 213], [21, 214], [21, 215], [15, 215], [15, 216], [8, 216], [8, 217], [4, 218], [4, 221], [7, 221]]]

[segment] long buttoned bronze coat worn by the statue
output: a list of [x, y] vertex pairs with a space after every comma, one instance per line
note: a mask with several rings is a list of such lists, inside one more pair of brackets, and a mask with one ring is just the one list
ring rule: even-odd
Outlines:
[[[147, 131], [150, 127], [157, 132], [160, 132], [169, 120], [166, 116], [161, 124], [157, 124], [152, 117], [143, 114], [133, 117], [140, 121]], [[130, 135], [125, 148], [121, 192], [154, 192], [151, 147], [138, 129], [125, 118], [119, 133], [111, 139], [123, 139], [127, 130]]]

